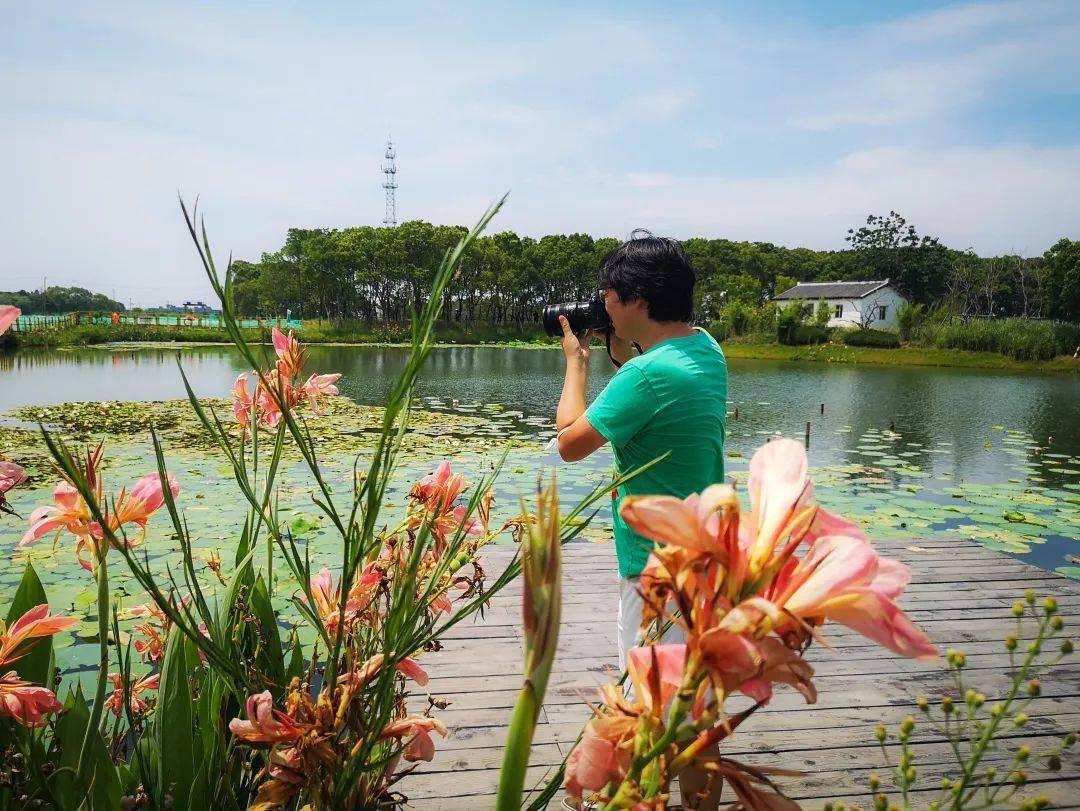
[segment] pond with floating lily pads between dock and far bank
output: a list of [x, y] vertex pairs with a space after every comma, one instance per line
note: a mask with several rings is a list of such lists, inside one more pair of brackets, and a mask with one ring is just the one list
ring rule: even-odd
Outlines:
[[[312, 347], [310, 368], [341, 371], [342, 394], [362, 405], [380, 405], [401, 371], [406, 350], [393, 347]], [[124, 347], [22, 351], [0, 354], [0, 414], [27, 405], [72, 401], [161, 401], [184, 396], [177, 362], [200, 396], [226, 396], [243, 365], [226, 347]], [[497, 348], [443, 348], [430, 359], [418, 391], [418, 407], [472, 418], [470, 433], [483, 435], [486, 450], [445, 455], [474, 479], [488, 470], [499, 448], [514, 448], [497, 484], [499, 503], [512, 512], [541, 470], [557, 469], [564, 501], [573, 502], [608, 473], [603, 450], [565, 465], [544, 449], [554, 433], [555, 404], [562, 388], [558, 351]], [[590, 398], [612, 374], [600, 352], [593, 353]], [[745, 482], [754, 449], [779, 433], [802, 441], [810, 424], [809, 455], [820, 501], [861, 521], [870, 538], [918, 539], [954, 536], [1015, 554], [1063, 575], [1080, 577], [1080, 381], [1069, 377], [1017, 375], [971, 369], [872, 367], [827, 363], [733, 361], [730, 364], [728, 474]], [[822, 409], [824, 406], [824, 410]], [[478, 418], [478, 419], [477, 419]], [[0, 420], [4, 418], [0, 417]], [[11, 424], [10, 418], [8, 418]], [[445, 437], [443, 437], [445, 438]], [[433, 452], [442, 452], [443, 446]], [[11, 448], [0, 448], [16, 460]], [[119, 487], [148, 472], [148, 438], [111, 446], [124, 469]], [[340, 455], [339, 455], [340, 456]], [[459, 458], [460, 457], [460, 458]], [[184, 482], [181, 505], [207, 554], [232, 549], [242, 515], [227, 509], [232, 497], [228, 470], [203, 455], [171, 457]], [[404, 465], [415, 479], [434, 457]], [[351, 458], [328, 460], [332, 476], [345, 484]], [[126, 471], [132, 471], [131, 474]], [[286, 471], [283, 503], [300, 528], [319, 527], [310, 486], [299, 469]], [[288, 476], [296, 475], [296, 481]], [[403, 483], [391, 496], [404, 500]], [[347, 490], [346, 490], [347, 491]], [[50, 483], [12, 494], [25, 516], [50, 497]], [[194, 499], [201, 499], [195, 501]], [[606, 537], [609, 516], [602, 511], [586, 537]], [[11, 554], [25, 522], [0, 517], [0, 549]], [[164, 524], [162, 525], [164, 526]], [[162, 533], [165, 530], [162, 528]], [[333, 539], [312, 530], [312, 549], [333, 549]], [[63, 546], [64, 544], [62, 544]], [[43, 548], [43, 549], [42, 549]], [[14, 565], [0, 570], [0, 594], [9, 595], [21, 575]], [[31, 549], [46, 590], [63, 593], [71, 609], [91, 609], [91, 579], [67, 548], [48, 543]], [[162, 552], [163, 564], [175, 559]], [[330, 564], [333, 565], [333, 564]], [[114, 581], [124, 589], [124, 579]], [[84, 623], [91, 633], [91, 624]], [[94, 646], [86, 649], [86, 663]], [[65, 651], [79, 668], [79, 651]]]

